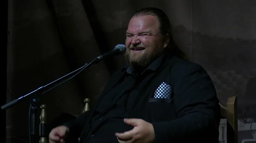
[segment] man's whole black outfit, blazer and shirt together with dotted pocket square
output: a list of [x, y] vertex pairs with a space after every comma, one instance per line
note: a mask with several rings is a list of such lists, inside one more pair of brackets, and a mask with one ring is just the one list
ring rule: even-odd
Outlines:
[[218, 142], [219, 102], [200, 65], [165, 53], [140, 75], [128, 67], [113, 76], [87, 119], [82, 115], [75, 124], [67, 124], [81, 131], [80, 142], [118, 142], [116, 132], [133, 128], [124, 118], [150, 122], [156, 143], [188, 138], [198, 143]]

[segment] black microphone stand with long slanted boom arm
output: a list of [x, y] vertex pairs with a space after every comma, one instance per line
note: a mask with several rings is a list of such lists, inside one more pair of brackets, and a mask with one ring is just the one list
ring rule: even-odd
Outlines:
[[[30, 136], [30, 143], [38, 143], [37, 142], [37, 108], [38, 108], [38, 104], [39, 104], [39, 98], [38, 96], [39, 95], [43, 95], [44, 93], [52, 90], [53, 88], [59, 86], [59, 85], [62, 85], [64, 84], [65, 82], [67, 82], [68, 80], [72, 79], [74, 76], [76, 76], [77, 74], [79, 74], [82, 70], [84, 70], [85, 68], [89, 67], [91, 64], [94, 64], [94, 63], [97, 63], [96, 62], [96, 59], [94, 59], [91, 63], [89, 64], [85, 64], [83, 65], [82, 67], [72, 71], [71, 73], [69, 74], [66, 74], [64, 76], [62, 76], [61, 78], [57, 79], [57, 80], [54, 80], [52, 82], [50, 82], [49, 84], [47, 85], [44, 85], [42, 87], [39, 87], [37, 88], [36, 90], [24, 95], [24, 96], [21, 96], [17, 99], [14, 99], [13, 101], [9, 102], [9, 103], [6, 103], [5, 105], [3, 105], [1, 107], [2, 110], [4, 109], [7, 109], [7, 108], [10, 108], [11, 106], [17, 104], [18, 102], [22, 101], [23, 99], [26, 99], [28, 97], [31, 96], [31, 100], [30, 100], [30, 110], [29, 110], [29, 136]], [[78, 72], [77, 72], [78, 71]], [[71, 74], [77, 72], [75, 75], [71, 76]], [[44, 91], [44, 92], [39, 92], [39, 91], [42, 91], [44, 88], [48, 87], [48, 86], [51, 86], [51, 85], [54, 85], [56, 84], [57, 82], [59, 82], [60, 80], [64, 80], [63, 82], [60, 82], [59, 84], [53, 86], [52, 88], [49, 88], [48, 90]]]

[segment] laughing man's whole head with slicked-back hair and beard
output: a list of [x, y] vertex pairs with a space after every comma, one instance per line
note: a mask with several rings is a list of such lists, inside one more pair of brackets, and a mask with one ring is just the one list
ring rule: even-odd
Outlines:
[[136, 11], [126, 32], [128, 64], [142, 72], [167, 49], [171, 24], [166, 14], [158, 8], [143, 8]]

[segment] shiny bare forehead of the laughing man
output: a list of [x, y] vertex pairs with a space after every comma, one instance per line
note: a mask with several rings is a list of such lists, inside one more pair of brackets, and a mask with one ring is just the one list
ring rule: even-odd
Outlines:
[[153, 15], [134, 16], [130, 19], [127, 32], [157, 32], [159, 30], [158, 19]]

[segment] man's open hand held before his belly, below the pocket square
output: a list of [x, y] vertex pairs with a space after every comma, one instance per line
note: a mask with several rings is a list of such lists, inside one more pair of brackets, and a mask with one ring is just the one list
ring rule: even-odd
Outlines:
[[116, 133], [119, 143], [153, 143], [155, 133], [153, 125], [142, 119], [124, 119], [128, 125], [134, 126], [130, 131]]

